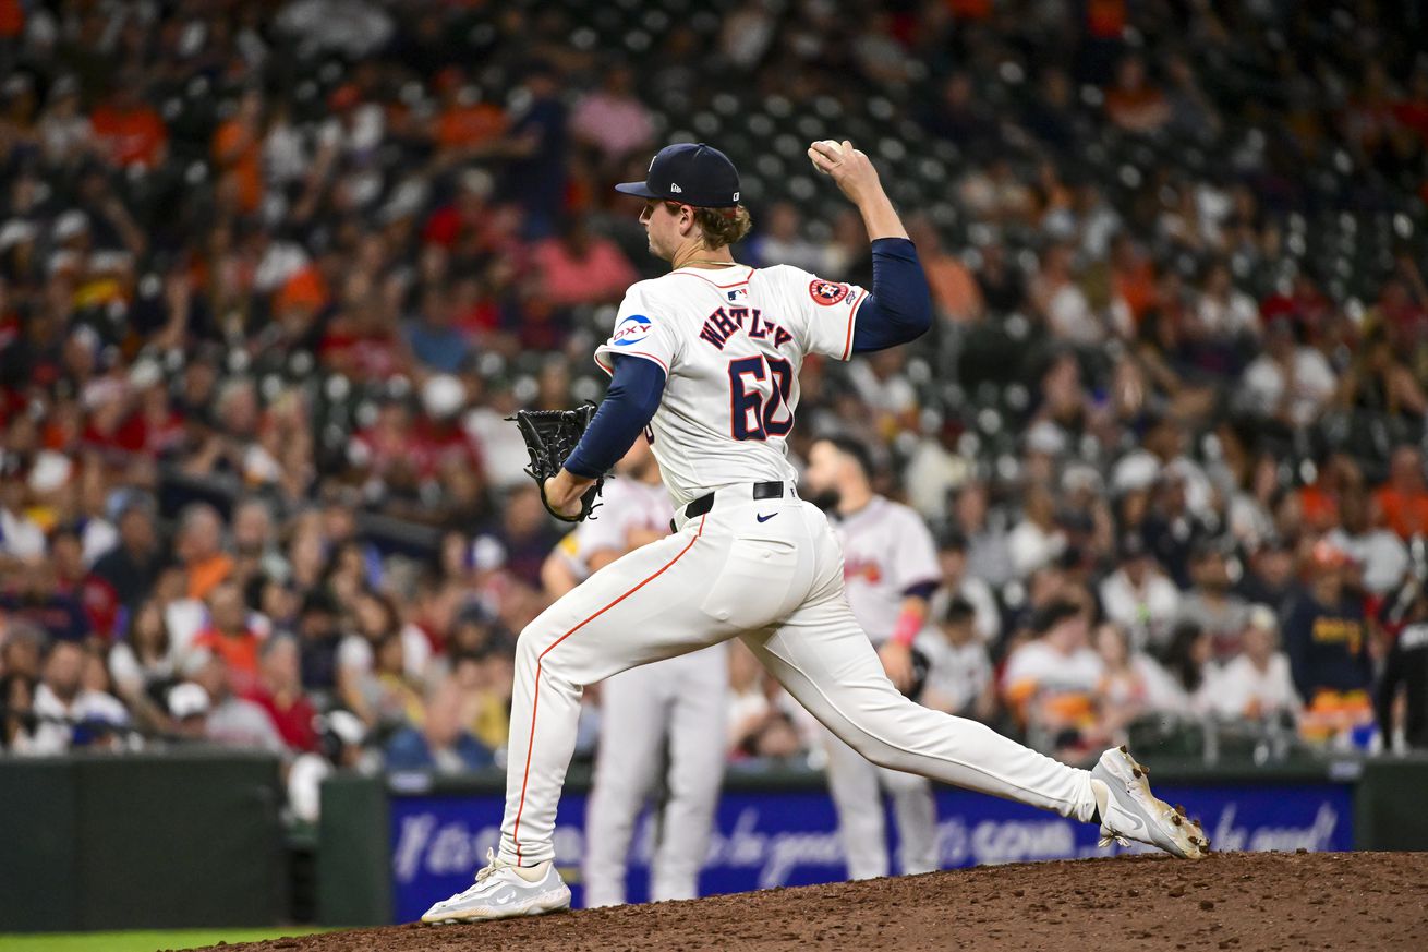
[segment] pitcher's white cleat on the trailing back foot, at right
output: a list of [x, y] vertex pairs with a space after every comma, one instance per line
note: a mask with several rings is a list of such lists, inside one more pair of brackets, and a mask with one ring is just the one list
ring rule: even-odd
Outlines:
[[[1101, 846], [1130, 841], [1158, 846], [1181, 859], [1210, 855], [1210, 838], [1185, 808], [1171, 806], [1151, 793], [1150, 770], [1124, 746], [1111, 748], [1091, 769], [1091, 786], [1101, 808]], [[1104, 798], [1102, 798], [1104, 790]]]

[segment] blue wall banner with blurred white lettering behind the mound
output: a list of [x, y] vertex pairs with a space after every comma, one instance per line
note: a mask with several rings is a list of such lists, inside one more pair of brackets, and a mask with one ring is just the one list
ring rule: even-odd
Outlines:
[[[1157, 785], [1198, 816], [1220, 851], [1354, 848], [1348, 783]], [[467, 888], [500, 841], [500, 793], [394, 793], [393, 921], [410, 922], [436, 899]], [[1097, 830], [1052, 813], [957, 789], [938, 789], [938, 853], [945, 869], [981, 863], [1105, 856]], [[568, 792], [555, 818], [555, 861], [581, 905], [585, 795]], [[844, 878], [833, 803], [821, 789], [725, 790], [700, 878], [703, 893], [801, 886]], [[887, 822], [895, 866], [895, 823]], [[628, 899], [648, 898], [653, 829], [647, 815], [631, 846]], [[1127, 852], [1127, 851], [1120, 851]]]

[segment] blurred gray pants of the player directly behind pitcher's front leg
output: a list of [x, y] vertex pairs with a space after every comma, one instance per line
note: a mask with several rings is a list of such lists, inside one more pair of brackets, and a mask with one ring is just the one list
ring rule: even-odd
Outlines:
[[585, 809], [585, 905], [625, 901], [634, 825], [665, 770], [650, 898], [694, 899], [724, 780], [728, 650], [620, 672], [600, 685], [600, 750]]

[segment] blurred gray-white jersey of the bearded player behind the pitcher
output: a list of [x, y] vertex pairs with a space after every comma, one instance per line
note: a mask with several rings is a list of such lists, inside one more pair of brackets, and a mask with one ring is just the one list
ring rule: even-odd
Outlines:
[[932, 533], [915, 512], [883, 496], [833, 525], [843, 543], [843, 583], [853, 616], [881, 645], [897, 628], [904, 592], [941, 577]]

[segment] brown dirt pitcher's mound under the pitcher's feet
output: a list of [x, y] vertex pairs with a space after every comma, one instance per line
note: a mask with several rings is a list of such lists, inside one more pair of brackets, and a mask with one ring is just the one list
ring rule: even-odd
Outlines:
[[984, 866], [224, 952], [1368, 951], [1421, 948], [1425, 931], [1428, 853], [1222, 853], [1198, 863], [1124, 856]]

